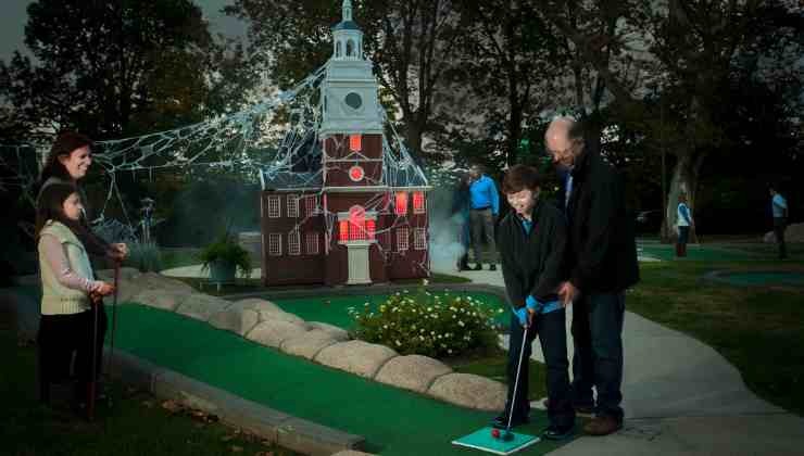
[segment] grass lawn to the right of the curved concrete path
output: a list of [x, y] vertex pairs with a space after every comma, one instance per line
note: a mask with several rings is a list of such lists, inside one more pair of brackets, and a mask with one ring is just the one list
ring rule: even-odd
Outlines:
[[[772, 254], [763, 245], [746, 250], [761, 257]], [[804, 288], [736, 287], [702, 279], [712, 270], [804, 274], [804, 263], [674, 261], [640, 266], [642, 281], [628, 294], [629, 311], [713, 346], [752, 391], [804, 415]]]

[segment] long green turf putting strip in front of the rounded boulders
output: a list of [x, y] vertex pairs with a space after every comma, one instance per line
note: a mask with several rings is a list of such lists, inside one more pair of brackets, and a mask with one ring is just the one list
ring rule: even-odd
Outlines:
[[[325, 426], [365, 435], [382, 455], [461, 455], [450, 442], [486, 426], [493, 414], [456, 407], [287, 356], [202, 321], [122, 305], [116, 345], [248, 400]], [[538, 433], [543, 413], [520, 432]], [[543, 442], [522, 454], [555, 449]]]

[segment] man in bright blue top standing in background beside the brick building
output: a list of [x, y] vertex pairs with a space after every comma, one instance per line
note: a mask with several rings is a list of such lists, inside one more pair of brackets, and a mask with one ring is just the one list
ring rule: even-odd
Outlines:
[[479, 165], [469, 168], [469, 227], [475, 250], [475, 270], [482, 270], [482, 240], [489, 245], [489, 270], [497, 270], [494, 254], [494, 221], [500, 214], [500, 195], [494, 181], [482, 173]]

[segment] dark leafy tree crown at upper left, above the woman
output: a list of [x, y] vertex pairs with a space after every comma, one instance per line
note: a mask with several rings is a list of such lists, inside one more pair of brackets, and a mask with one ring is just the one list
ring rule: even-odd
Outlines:
[[98, 139], [203, 118], [216, 43], [190, 0], [39, 0], [25, 43], [0, 64], [4, 96], [32, 135]]

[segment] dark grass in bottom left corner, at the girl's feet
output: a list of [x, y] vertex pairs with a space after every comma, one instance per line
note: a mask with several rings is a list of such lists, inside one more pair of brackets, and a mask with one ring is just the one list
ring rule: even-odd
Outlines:
[[99, 403], [96, 421], [75, 417], [64, 400], [39, 404], [36, 349], [20, 346], [16, 335], [0, 329], [0, 453], [3, 455], [275, 455], [297, 453], [266, 445], [253, 435], [215, 422], [173, 403], [118, 384], [112, 408]]

